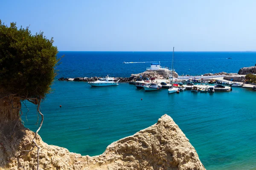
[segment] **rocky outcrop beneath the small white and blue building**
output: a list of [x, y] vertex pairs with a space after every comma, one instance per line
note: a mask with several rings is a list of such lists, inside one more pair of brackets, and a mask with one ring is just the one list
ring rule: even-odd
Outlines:
[[[171, 75], [171, 71], [165, 69], [165, 71], [144, 71], [143, 73], [139, 73], [139, 74], [131, 74], [131, 77], [135, 77], [135, 78], [139, 78], [140, 75], [142, 77], [148, 77], [148, 78], [156, 78], [156, 79], [167, 79], [167, 77], [170, 77]], [[178, 74], [174, 71], [173, 72], [173, 77], [177, 78]]]

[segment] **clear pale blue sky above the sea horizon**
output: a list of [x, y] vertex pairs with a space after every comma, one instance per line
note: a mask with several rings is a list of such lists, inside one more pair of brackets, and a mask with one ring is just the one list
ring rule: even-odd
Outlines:
[[3, 0], [59, 51], [255, 51], [256, 0]]

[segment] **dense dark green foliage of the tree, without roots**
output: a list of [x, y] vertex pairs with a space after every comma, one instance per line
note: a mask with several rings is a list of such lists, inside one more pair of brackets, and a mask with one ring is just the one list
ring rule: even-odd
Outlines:
[[28, 27], [8, 27], [0, 20], [0, 87], [24, 98], [44, 98], [58, 63], [52, 43], [43, 32], [32, 35]]

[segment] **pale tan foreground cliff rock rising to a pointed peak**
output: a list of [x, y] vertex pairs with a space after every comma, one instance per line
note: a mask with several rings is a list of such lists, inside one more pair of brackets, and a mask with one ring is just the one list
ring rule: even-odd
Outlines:
[[[5, 128], [0, 127], [2, 136]], [[22, 125], [18, 131], [22, 133], [10, 139], [15, 147], [0, 145], [0, 170], [17, 170], [18, 166], [22, 170], [36, 169], [37, 148], [17, 156], [19, 150], [31, 148], [34, 132]], [[205, 170], [189, 139], [168, 115], [133, 136], [113, 142], [99, 156], [70, 153], [63, 147], [44, 143], [40, 136], [36, 141], [41, 147], [40, 170]]]

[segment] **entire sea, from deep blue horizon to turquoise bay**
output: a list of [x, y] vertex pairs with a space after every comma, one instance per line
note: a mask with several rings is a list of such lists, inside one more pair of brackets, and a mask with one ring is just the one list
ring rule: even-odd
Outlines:
[[[256, 170], [256, 91], [233, 88], [214, 94], [168, 94], [167, 89], [137, 90], [127, 82], [91, 87], [87, 82], [58, 78], [130, 77], [152, 62], [171, 68], [172, 51], [60, 51], [61, 56], [52, 92], [41, 103], [44, 123], [39, 135], [47, 144], [96, 156], [112, 142], [154, 125], [168, 114], [207, 170]], [[253, 51], [174, 53], [174, 69], [179, 75], [237, 73], [255, 64]], [[37, 123], [36, 106], [24, 101], [22, 111], [25, 127], [37, 130], [41, 118]]]

